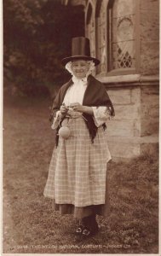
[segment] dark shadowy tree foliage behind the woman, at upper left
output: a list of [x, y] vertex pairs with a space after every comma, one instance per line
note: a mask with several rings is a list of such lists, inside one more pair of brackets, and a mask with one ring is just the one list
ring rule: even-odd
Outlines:
[[77, 36], [83, 36], [81, 6], [57, 0], [3, 1], [6, 84], [28, 95], [62, 84], [69, 76], [60, 60], [71, 54], [71, 39]]

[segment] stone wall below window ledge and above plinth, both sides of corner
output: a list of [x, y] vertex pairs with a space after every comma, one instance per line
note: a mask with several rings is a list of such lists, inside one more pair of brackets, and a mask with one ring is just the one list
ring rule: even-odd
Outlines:
[[[130, 82], [129, 82], [130, 84]], [[158, 134], [159, 87], [129, 85], [107, 90], [115, 107], [116, 116], [108, 125], [110, 136], [147, 137]]]

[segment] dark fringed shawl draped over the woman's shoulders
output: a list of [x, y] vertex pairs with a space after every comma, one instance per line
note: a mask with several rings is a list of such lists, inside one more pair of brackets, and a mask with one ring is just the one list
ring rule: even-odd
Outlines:
[[[87, 79], [87, 89], [85, 90], [84, 96], [83, 96], [83, 106], [89, 106], [89, 107], [100, 107], [100, 106], [106, 106], [111, 107], [111, 116], [114, 116], [114, 108], [112, 106], [112, 102], [106, 92], [106, 88], [103, 84], [101, 84], [100, 81], [96, 80], [93, 76], [89, 75]], [[66, 90], [73, 84], [72, 79], [67, 82], [66, 84], [62, 85], [60, 88], [58, 95], [55, 97], [55, 101], [53, 103], [53, 107], [50, 114], [50, 121], [53, 121], [55, 117], [56, 111], [60, 110], [60, 106], [62, 105], [62, 102], [64, 100], [64, 97], [66, 95]], [[89, 135], [91, 137], [92, 142], [94, 141], [96, 132], [97, 132], [97, 126], [95, 125], [94, 119], [92, 116], [88, 113], [83, 113], [83, 117], [85, 120], [85, 123], [89, 129]], [[106, 124], [103, 125], [106, 127]], [[58, 143], [58, 137], [57, 137], [57, 143]]]

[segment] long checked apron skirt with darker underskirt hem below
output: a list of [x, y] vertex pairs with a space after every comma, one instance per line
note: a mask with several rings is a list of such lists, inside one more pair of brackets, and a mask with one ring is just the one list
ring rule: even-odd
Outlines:
[[94, 143], [82, 117], [64, 119], [71, 135], [59, 138], [49, 165], [44, 196], [52, 198], [55, 210], [73, 213], [74, 218], [90, 214], [104, 217], [109, 212], [106, 163], [111, 159], [106, 131], [99, 127]]

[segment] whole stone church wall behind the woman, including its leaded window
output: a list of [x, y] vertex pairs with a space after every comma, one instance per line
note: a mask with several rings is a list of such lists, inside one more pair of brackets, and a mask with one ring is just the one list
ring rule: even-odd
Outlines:
[[116, 112], [107, 122], [112, 157], [158, 150], [159, 1], [78, 2], [84, 6], [91, 55], [101, 60], [94, 75], [105, 84]]

